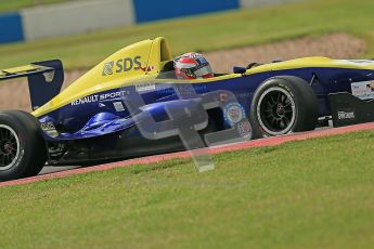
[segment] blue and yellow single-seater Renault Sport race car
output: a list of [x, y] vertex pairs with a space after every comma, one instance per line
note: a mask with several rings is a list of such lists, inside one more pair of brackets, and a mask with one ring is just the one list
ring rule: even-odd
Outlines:
[[125, 47], [62, 92], [59, 60], [2, 69], [0, 80], [27, 77], [34, 112], [0, 112], [0, 181], [185, 149], [180, 131], [197, 148], [192, 130], [203, 146], [224, 131], [248, 140], [313, 130], [331, 115], [328, 94], [366, 94], [373, 73], [371, 60], [305, 57], [177, 79], [162, 37]]

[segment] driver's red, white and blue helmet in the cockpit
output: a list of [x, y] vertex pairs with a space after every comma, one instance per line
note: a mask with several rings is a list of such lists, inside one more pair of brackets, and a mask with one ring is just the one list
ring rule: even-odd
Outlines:
[[185, 53], [173, 60], [178, 79], [211, 78], [214, 74], [208, 61], [199, 53]]

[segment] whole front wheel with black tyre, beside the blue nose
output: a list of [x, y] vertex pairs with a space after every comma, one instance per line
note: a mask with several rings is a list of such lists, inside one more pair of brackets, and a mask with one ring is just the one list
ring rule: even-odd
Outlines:
[[318, 99], [313, 89], [294, 76], [262, 82], [250, 106], [254, 137], [313, 130], [318, 123]]

